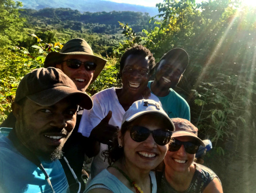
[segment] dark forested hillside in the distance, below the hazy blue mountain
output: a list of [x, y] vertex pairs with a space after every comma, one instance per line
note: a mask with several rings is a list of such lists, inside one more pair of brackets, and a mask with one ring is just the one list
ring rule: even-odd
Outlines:
[[142, 29], [154, 29], [157, 25], [149, 23], [150, 15], [148, 13], [132, 11], [111, 11], [111, 12], [84, 12], [70, 8], [45, 8], [38, 11], [24, 9], [20, 12], [21, 17], [27, 19], [27, 26], [52, 25], [55, 29], [88, 29], [93, 33], [116, 34], [120, 31], [118, 22], [129, 23], [136, 32]]

